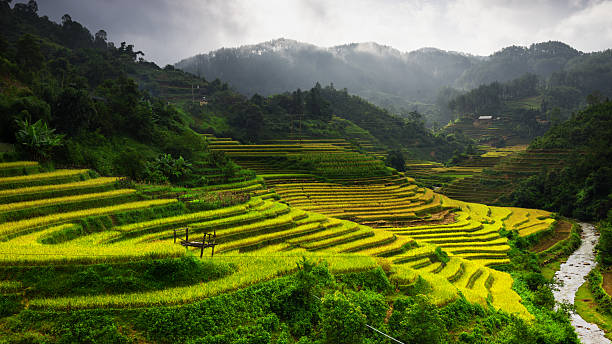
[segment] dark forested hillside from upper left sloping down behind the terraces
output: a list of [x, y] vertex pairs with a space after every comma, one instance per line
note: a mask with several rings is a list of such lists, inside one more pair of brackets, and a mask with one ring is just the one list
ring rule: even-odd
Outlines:
[[[287, 133], [298, 139], [347, 139], [366, 151], [404, 148], [406, 154], [440, 161], [466, 142], [437, 138], [417, 122], [331, 86], [247, 98], [218, 79], [159, 68], [133, 45], [115, 47], [103, 30], [92, 35], [69, 16], [56, 24], [27, 7], [3, 6], [11, 25], [0, 32], [7, 47], [0, 140], [15, 143], [17, 118], [29, 124], [41, 120], [64, 135], [60, 149], [46, 157], [59, 164], [135, 179], [149, 178], [145, 167], [160, 154], [221, 168], [204, 149], [200, 133], [245, 143], [283, 139]], [[47, 29], [40, 31], [41, 25]], [[26, 32], [40, 36], [19, 35]], [[184, 182], [197, 183], [194, 175]]]

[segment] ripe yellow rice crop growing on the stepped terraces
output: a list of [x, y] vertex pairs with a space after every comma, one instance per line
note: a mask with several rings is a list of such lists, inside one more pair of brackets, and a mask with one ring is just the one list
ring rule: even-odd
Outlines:
[[[240, 152], [251, 154], [251, 152]], [[266, 154], [275, 153], [266, 152]], [[340, 158], [343, 158], [340, 156]], [[364, 158], [346, 155], [344, 158], [354, 158], [352, 161], [334, 162], [326, 157], [320, 159], [324, 164], [322, 169], [351, 172], [352, 166], [374, 166]], [[349, 160], [351, 160], [349, 159]], [[59, 172], [59, 171], [57, 171]], [[81, 171], [82, 172], [82, 171]], [[72, 172], [74, 173], [74, 172]], [[44, 174], [41, 174], [44, 175]], [[12, 177], [11, 177], [12, 178]], [[41, 177], [41, 180], [55, 177]], [[2, 178], [7, 180], [7, 178]], [[0, 179], [0, 180], [2, 180]], [[14, 179], [13, 179], [14, 180]], [[348, 179], [347, 179], [348, 180]], [[407, 179], [406, 179], [407, 180]], [[187, 224], [194, 229], [194, 233], [202, 232], [207, 228], [216, 228], [219, 246], [213, 261], [230, 263], [237, 267], [231, 275], [218, 280], [190, 286], [173, 287], [164, 290], [154, 290], [141, 293], [128, 293], [116, 295], [71, 296], [60, 298], [39, 298], [30, 300], [33, 309], [50, 308], [97, 308], [97, 307], [142, 307], [159, 305], [176, 305], [194, 302], [206, 297], [243, 288], [254, 283], [263, 282], [295, 271], [296, 262], [302, 256], [309, 259], [325, 260], [329, 263], [332, 272], [363, 271], [377, 266], [377, 260], [391, 265], [392, 279], [403, 285], [412, 283], [421, 276], [432, 286], [429, 296], [439, 305], [445, 304], [458, 297], [462, 291], [472, 301], [484, 303], [487, 296], [493, 296], [497, 302], [496, 308], [507, 311], [524, 310], [520, 305], [520, 297], [511, 291], [508, 285], [507, 274], [493, 275], [493, 271], [486, 268], [483, 263], [505, 262], [508, 250], [507, 239], [499, 236], [502, 217], [508, 217], [509, 210], [493, 208], [485, 205], [456, 202], [433, 193], [429, 189], [417, 188], [414, 184], [407, 184], [406, 180], [399, 180], [397, 176], [372, 178], [363, 183], [378, 183], [377, 185], [351, 185], [345, 186], [335, 183], [298, 183], [275, 185], [288, 203], [300, 206], [301, 209], [290, 208], [285, 204], [273, 201], [262, 201], [259, 197], [238, 206], [217, 210], [200, 211], [191, 214], [169, 216], [166, 218], [142, 221], [128, 225], [118, 226], [111, 230], [83, 235], [67, 242], [48, 245], [41, 238], [57, 234], [61, 231], [70, 231], [74, 225], [68, 223], [85, 216], [106, 215], [113, 212], [138, 209], [176, 202], [176, 200], [158, 200], [126, 203], [113, 207], [87, 209], [78, 212], [67, 212], [42, 216], [33, 219], [0, 224], [0, 237], [12, 236], [20, 232], [32, 232], [32, 229], [42, 229], [39, 232], [26, 234], [8, 242], [0, 242], [0, 264], [56, 264], [79, 263], [90, 264], [100, 262], [127, 261], [132, 259], [145, 259], [148, 257], [177, 257], [187, 251], [180, 245], [173, 244], [172, 228], [176, 225]], [[95, 181], [95, 182], [94, 182]], [[114, 179], [105, 182], [114, 182]], [[261, 188], [260, 180], [234, 183], [223, 188], [250, 190]], [[0, 182], [1, 184], [2, 182]], [[9, 186], [10, 183], [6, 182]], [[89, 184], [90, 183], [90, 184]], [[0, 190], [0, 197], [5, 195], [19, 195], [21, 193], [52, 192], [57, 188], [70, 190], [71, 188], [86, 187], [86, 184], [104, 185], [101, 178], [86, 182], [67, 183], [60, 185], [34, 186], [20, 188], [21, 191]], [[408, 183], [411, 183], [408, 180]], [[40, 184], [40, 183], [39, 183]], [[273, 183], [272, 183], [273, 184]], [[54, 189], [55, 188], [55, 189]], [[112, 197], [134, 192], [134, 190], [116, 190], [86, 194], [78, 196], [58, 197], [55, 199], [41, 199], [38, 201], [24, 201], [7, 205], [0, 205], [3, 209], [23, 209], [24, 207], [38, 207], [59, 204], [58, 202], [78, 202], [80, 200], [96, 199], [96, 197]], [[440, 211], [445, 208], [456, 208], [455, 221], [445, 224], [423, 225], [427, 223], [425, 213]], [[419, 226], [408, 228], [394, 228], [393, 230], [372, 229], [354, 222], [329, 219], [324, 215], [307, 213], [306, 209], [317, 209], [321, 212], [338, 214], [339, 216], [361, 215], [362, 219], [381, 218], [390, 221], [407, 220], [415, 217], [414, 212], [419, 211]], [[422, 213], [421, 213], [422, 212]], [[522, 223], [515, 229], [528, 230], [535, 228], [544, 220], [537, 216], [527, 217], [531, 222]], [[437, 218], [436, 218], [437, 219]], [[538, 221], [535, 221], [535, 220]], [[47, 226], [54, 226], [49, 227]], [[174, 227], [173, 227], [174, 226]], [[397, 226], [402, 226], [398, 224]], [[45, 229], [46, 228], [46, 229]], [[144, 233], [145, 230], [156, 228], [158, 233]], [[508, 228], [508, 227], [506, 227]], [[519, 229], [520, 228], [520, 229]], [[75, 227], [78, 230], [78, 228]], [[163, 231], [162, 231], [163, 230]], [[78, 231], [74, 231], [77, 232]], [[151, 231], [149, 231], [151, 232]], [[129, 234], [126, 234], [129, 233]], [[143, 234], [136, 236], [137, 234]], [[190, 233], [191, 234], [191, 233]], [[125, 238], [131, 236], [130, 238]], [[201, 234], [200, 234], [201, 235]], [[401, 235], [396, 237], [396, 235]], [[411, 236], [414, 236], [412, 238]], [[197, 238], [197, 236], [196, 236]], [[450, 261], [444, 266], [441, 262], [430, 262], [435, 258], [438, 246], [419, 242], [417, 240], [440, 242], [443, 249], [450, 254]], [[121, 240], [115, 240], [121, 239]], [[196, 240], [199, 240], [197, 238]], [[264, 246], [263, 248], [258, 248]], [[296, 246], [302, 246], [298, 248]], [[250, 251], [238, 253], [237, 249]], [[316, 253], [310, 250], [320, 250]], [[358, 254], [342, 252], [358, 251]], [[453, 255], [453, 252], [457, 255]], [[36, 255], [32, 255], [36, 253]], [[198, 252], [199, 254], [199, 252]], [[374, 256], [389, 256], [387, 258], [374, 258]], [[459, 256], [476, 258], [467, 261]], [[435, 260], [435, 259], [433, 259]], [[408, 262], [407, 264], [400, 264]], [[425, 264], [428, 264], [424, 267]], [[431, 264], [430, 264], [431, 263]], [[415, 270], [410, 266], [422, 267]], [[486, 284], [490, 278], [494, 283]], [[454, 281], [453, 283], [449, 282]], [[499, 283], [498, 283], [499, 282]], [[502, 297], [508, 297], [507, 300]], [[497, 298], [497, 299], [496, 299]], [[507, 304], [506, 304], [507, 303]], [[524, 310], [526, 312], [526, 310]]]

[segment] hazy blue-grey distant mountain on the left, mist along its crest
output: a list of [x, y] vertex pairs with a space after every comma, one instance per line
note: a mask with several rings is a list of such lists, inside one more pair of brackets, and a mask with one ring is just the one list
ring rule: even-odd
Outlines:
[[222, 78], [245, 94], [270, 95], [316, 82], [333, 83], [377, 105], [409, 112], [416, 102], [432, 103], [438, 89], [453, 84], [480, 59], [432, 48], [403, 53], [376, 43], [321, 48], [277, 39], [200, 54], [175, 66]]

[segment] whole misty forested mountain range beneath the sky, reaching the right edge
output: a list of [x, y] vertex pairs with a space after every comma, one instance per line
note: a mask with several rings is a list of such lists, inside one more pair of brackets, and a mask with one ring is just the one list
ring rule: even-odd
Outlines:
[[196, 55], [175, 66], [222, 78], [245, 94], [276, 94], [310, 88], [316, 82], [333, 84], [397, 114], [418, 110], [429, 125], [447, 123], [453, 117], [448, 103], [462, 92], [515, 82], [525, 75], [536, 77], [536, 89], [530, 90], [543, 97], [542, 115], [559, 107], [567, 117], [591, 93], [612, 95], [609, 50], [582, 53], [552, 41], [511, 46], [479, 57], [434, 48], [404, 53], [376, 43], [321, 48], [278, 39]]

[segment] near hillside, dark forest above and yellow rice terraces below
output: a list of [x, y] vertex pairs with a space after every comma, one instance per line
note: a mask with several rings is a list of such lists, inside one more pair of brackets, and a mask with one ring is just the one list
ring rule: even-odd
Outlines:
[[[382, 160], [488, 163], [461, 133], [333, 85], [247, 97], [33, 0], [0, 17], [0, 343], [578, 343], [548, 276], [576, 224]], [[541, 149], [607, 135], [597, 106]]]

